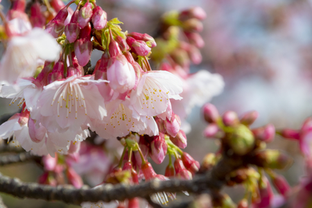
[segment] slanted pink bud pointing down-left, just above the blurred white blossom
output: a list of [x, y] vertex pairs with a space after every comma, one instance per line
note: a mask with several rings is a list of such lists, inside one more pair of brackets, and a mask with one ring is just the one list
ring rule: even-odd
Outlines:
[[67, 18], [68, 10], [66, 7], [62, 8], [48, 24], [46, 24], [45, 31], [50, 33], [53, 37], [59, 37], [64, 32], [64, 22]]

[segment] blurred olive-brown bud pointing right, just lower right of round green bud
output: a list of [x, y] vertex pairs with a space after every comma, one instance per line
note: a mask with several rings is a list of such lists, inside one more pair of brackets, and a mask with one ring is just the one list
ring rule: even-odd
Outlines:
[[262, 150], [256, 153], [253, 163], [264, 168], [283, 169], [291, 164], [292, 161], [291, 157], [281, 153], [279, 150]]

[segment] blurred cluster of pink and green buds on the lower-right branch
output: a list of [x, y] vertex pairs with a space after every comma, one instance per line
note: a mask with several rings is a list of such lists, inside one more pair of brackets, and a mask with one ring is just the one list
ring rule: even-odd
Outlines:
[[[266, 207], [275, 198], [270, 182], [263, 176], [263, 170], [268, 173], [272, 184], [281, 193], [284, 200], [288, 197], [290, 187], [283, 176], [277, 175], [272, 169], [283, 169], [291, 164], [292, 159], [279, 150], [266, 149], [266, 143], [275, 137], [275, 127], [272, 124], [250, 129], [250, 125], [258, 117], [255, 111], [246, 112], [239, 118], [236, 112], [227, 111], [220, 115], [211, 103], [202, 107], [205, 121], [209, 123], [204, 131], [205, 137], [221, 141], [221, 148], [216, 155], [209, 153], [202, 162], [201, 172], [213, 167], [221, 153], [230, 157], [245, 157], [258, 166], [257, 171], [252, 167], [240, 168], [229, 174], [227, 185], [245, 185], [245, 197], [239, 207], [248, 207], [248, 196], [251, 193], [252, 205]], [[293, 133], [291, 135], [294, 135]]]

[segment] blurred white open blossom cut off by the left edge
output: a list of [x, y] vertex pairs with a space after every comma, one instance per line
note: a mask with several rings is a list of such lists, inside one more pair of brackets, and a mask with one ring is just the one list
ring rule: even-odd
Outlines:
[[0, 62], [0, 83], [12, 84], [17, 78], [33, 76], [39, 59], [55, 60], [59, 53], [57, 42], [40, 28], [11, 37]]

